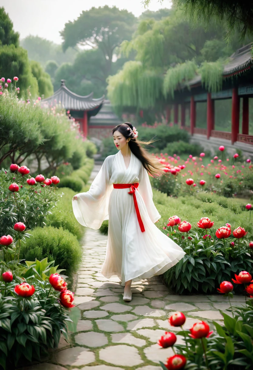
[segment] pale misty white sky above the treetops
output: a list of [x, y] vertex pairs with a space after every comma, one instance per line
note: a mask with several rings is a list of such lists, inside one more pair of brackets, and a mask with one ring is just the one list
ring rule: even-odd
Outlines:
[[[77, 19], [82, 10], [89, 10], [92, 6], [108, 5], [127, 9], [136, 17], [145, 11], [141, 0], [0, 0], [0, 6], [13, 21], [14, 30], [20, 33], [20, 38], [29, 34], [40, 36], [61, 44], [59, 31], [69, 20]], [[171, 1], [151, 0], [149, 10], [170, 8]]]

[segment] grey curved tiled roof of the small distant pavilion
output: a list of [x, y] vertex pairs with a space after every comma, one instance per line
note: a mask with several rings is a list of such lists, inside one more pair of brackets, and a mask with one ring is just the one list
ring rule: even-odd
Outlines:
[[41, 105], [62, 104], [65, 109], [76, 111], [90, 111], [99, 107], [104, 102], [104, 95], [101, 98], [94, 99], [93, 92], [86, 96], [77, 95], [68, 90], [65, 86], [65, 80], [61, 80], [61, 87], [55, 91], [54, 95], [41, 100]]

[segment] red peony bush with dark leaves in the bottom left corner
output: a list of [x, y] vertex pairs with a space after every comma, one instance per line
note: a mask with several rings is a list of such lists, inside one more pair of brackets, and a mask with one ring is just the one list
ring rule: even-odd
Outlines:
[[[6, 267], [3, 266], [2, 271]], [[76, 323], [80, 313], [78, 309], [66, 308], [73, 305], [64, 304], [58, 290], [52, 289], [50, 276], [63, 271], [57, 268], [54, 261], [47, 262], [45, 258], [26, 261], [26, 265], [20, 263], [13, 276], [10, 271], [0, 274], [0, 364], [3, 369], [14, 369], [25, 359], [40, 360], [50, 348], [58, 346], [61, 334], [68, 340], [67, 322]], [[7, 273], [9, 279], [6, 279]], [[69, 292], [64, 280], [62, 286]]]

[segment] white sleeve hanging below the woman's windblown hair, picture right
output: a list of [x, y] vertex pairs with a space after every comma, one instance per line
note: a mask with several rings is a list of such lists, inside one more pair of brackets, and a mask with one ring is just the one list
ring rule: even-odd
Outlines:
[[153, 192], [152, 187], [148, 175], [148, 171], [144, 168], [141, 164], [141, 169], [139, 172], [139, 186], [138, 186], [139, 194], [142, 196], [144, 203], [146, 205], [146, 209], [148, 211], [149, 217], [151, 221], [155, 223], [161, 218], [160, 213], [155, 207], [153, 202]]

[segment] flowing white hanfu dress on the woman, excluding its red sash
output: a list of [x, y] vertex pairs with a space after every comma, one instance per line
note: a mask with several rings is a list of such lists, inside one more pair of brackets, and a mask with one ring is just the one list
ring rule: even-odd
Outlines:
[[[142, 232], [129, 188], [115, 189], [113, 184], [139, 183], [135, 191], [145, 231]], [[72, 200], [75, 218], [81, 225], [99, 229], [108, 221], [108, 240], [101, 273], [117, 275], [121, 285], [161, 275], [185, 255], [183, 249], [160, 231], [154, 223], [161, 218], [153, 202], [149, 175], [131, 152], [128, 168], [119, 150], [109, 155], [90, 186]]]

